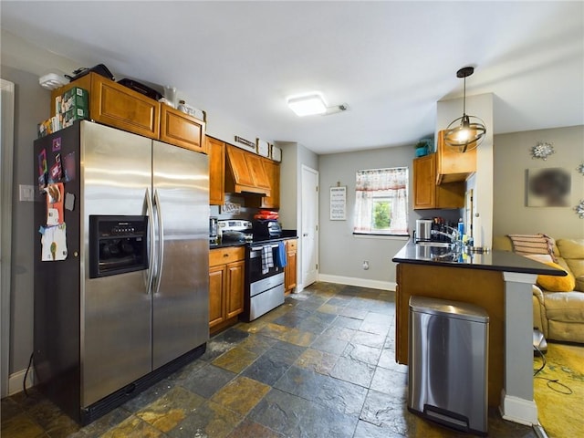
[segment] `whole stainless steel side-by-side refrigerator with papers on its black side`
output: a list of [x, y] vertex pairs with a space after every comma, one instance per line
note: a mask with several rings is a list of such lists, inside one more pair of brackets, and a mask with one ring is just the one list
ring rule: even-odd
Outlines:
[[35, 154], [36, 381], [88, 423], [204, 352], [208, 157], [89, 120]]

